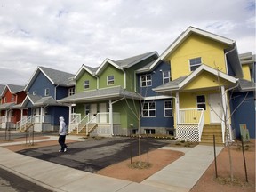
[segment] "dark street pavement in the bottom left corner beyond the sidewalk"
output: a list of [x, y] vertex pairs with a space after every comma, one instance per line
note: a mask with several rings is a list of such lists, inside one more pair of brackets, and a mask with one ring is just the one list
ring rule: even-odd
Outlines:
[[3, 192], [51, 192], [0, 168], [0, 191]]

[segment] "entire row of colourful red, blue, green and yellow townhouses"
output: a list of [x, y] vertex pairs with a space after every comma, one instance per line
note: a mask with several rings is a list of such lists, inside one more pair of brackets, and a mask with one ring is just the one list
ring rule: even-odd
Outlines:
[[161, 55], [106, 59], [76, 74], [37, 67], [24, 87], [0, 85], [0, 126], [56, 131], [64, 116], [77, 134], [140, 131], [188, 141], [219, 134], [224, 142], [225, 132], [239, 137], [246, 124], [255, 138], [254, 80], [255, 55], [238, 55], [234, 40], [189, 27]]

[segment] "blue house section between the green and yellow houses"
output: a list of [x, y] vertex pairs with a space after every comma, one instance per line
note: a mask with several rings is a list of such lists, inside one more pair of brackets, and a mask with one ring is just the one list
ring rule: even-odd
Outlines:
[[174, 135], [172, 97], [159, 95], [152, 90], [171, 81], [170, 63], [158, 58], [136, 73], [138, 92], [144, 98], [141, 107], [141, 132]]

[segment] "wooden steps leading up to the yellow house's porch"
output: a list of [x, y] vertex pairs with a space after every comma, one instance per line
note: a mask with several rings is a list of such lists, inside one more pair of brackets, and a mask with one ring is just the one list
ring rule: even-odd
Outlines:
[[223, 145], [220, 124], [205, 124], [200, 144], [213, 145], [213, 135], [215, 135], [216, 145]]

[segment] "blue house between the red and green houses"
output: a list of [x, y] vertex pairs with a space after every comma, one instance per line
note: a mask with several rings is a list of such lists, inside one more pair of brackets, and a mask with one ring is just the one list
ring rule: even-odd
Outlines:
[[34, 130], [54, 131], [58, 129], [59, 117], [64, 116], [68, 124], [69, 109], [60, 100], [75, 93], [75, 75], [52, 68], [37, 67], [25, 87], [27, 97], [20, 108], [28, 108], [28, 116], [22, 116], [20, 129], [34, 125]]

